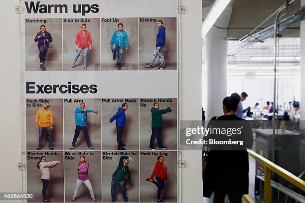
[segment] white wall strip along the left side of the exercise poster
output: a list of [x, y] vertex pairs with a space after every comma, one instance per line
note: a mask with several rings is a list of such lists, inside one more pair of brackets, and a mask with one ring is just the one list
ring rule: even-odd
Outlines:
[[0, 1], [0, 18], [2, 25], [5, 24], [1, 30], [1, 193], [21, 192], [21, 172], [17, 169], [17, 163], [21, 162], [19, 16], [15, 13], [17, 4], [18, 0]]

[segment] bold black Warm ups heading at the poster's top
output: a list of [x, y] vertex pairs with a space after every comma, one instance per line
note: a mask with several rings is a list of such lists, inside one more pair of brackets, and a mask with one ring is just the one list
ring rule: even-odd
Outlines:
[[[40, 4], [40, 1], [24, 1], [27, 13], [68, 13], [67, 4]], [[98, 13], [100, 11], [98, 4], [73, 4], [74, 13]]]

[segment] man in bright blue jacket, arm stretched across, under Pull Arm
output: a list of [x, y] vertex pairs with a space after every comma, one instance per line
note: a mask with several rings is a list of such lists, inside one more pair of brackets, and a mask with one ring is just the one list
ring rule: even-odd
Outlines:
[[90, 143], [86, 120], [87, 120], [87, 113], [94, 112], [95, 114], [98, 114], [99, 112], [96, 110], [91, 110], [89, 108], [85, 108], [85, 107], [86, 107], [86, 104], [84, 102], [82, 102], [80, 104], [80, 107], [77, 107], [75, 109], [75, 125], [76, 126], [75, 126], [75, 134], [74, 134], [73, 141], [72, 141], [72, 147], [70, 148], [70, 150], [75, 149], [75, 144], [76, 144], [77, 138], [81, 131], [83, 131], [83, 133], [84, 133], [85, 140], [87, 142], [87, 149], [94, 150]]

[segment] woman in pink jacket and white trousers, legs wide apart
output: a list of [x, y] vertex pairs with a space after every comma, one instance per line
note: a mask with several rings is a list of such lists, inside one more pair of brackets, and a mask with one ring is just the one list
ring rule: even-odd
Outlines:
[[80, 188], [82, 183], [84, 183], [85, 186], [90, 191], [92, 202], [96, 203], [93, 188], [92, 188], [91, 183], [89, 181], [89, 163], [86, 162], [85, 156], [80, 156], [79, 157], [79, 163], [78, 163], [78, 166], [77, 166], [77, 174], [78, 174], [78, 179], [76, 181], [76, 188], [74, 190], [72, 203], [75, 202], [77, 193], [78, 193], [79, 188]]

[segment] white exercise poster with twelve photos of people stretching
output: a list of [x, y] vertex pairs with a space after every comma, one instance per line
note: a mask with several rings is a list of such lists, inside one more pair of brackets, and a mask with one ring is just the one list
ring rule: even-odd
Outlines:
[[20, 2], [28, 203], [178, 202], [178, 0]]

